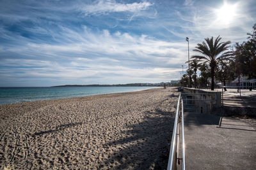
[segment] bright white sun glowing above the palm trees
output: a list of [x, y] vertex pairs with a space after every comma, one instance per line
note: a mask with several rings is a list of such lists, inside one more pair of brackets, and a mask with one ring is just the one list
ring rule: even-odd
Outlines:
[[221, 24], [230, 24], [236, 15], [236, 4], [224, 3], [220, 9], [216, 10], [216, 13]]

